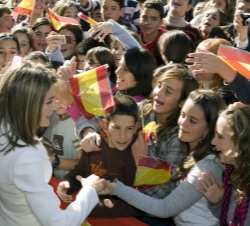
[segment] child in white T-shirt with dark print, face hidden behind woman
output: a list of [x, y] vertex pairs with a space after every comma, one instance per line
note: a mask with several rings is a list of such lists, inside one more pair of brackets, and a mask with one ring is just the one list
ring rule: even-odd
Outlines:
[[[56, 90], [60, 89], [60, 82]], [[55, 177], [63, 178], [74, 169], [82, 155], [80, 141], [75, 133], [75, 122], [61, 107], [57, 100], [57, 109], [50, 119], [50, 125], [43, 135], [43, 144], [48, 150]]]

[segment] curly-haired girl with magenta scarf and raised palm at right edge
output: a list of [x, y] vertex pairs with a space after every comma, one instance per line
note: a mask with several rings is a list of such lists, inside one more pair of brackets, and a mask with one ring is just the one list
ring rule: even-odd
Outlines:
[[219, 114], [212, 144], [225, 164], [223, 183], [216, 183], [211, 172], [200, 178], [203, 189], [197, 190], [210, 201], [220, 225], [250, 224], [249, 122], [249, 106], [229, 106]]

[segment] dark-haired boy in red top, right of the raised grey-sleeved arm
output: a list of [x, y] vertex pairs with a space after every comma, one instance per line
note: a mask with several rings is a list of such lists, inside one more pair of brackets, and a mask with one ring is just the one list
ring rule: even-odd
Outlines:
[[162, 59], [157, 48], [158, 40], [164, 33], [159, 27], [163, 19], [163, 5], [159, 0], [147, 0], [141, 6], [140, 27], [138, 32], [142, 46], [156, 58], [157, 64], [161, 65]]

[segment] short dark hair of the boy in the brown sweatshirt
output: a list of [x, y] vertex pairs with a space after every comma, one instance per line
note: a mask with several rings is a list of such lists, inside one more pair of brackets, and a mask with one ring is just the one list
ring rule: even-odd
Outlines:
[[138, 105], [135, 100], [128, 95], [117, 94], [115, 99], [115, 110], [113, 113], [105, 116], [107, 123], [109, 124], [115, 115], [127, 115], [132, 116], [135, 119], [135, 123], [138, 121]]

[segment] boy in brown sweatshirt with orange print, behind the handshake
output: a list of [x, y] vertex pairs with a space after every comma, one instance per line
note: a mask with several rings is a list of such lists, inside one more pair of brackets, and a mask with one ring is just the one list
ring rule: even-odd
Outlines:
[[[116, 109], [101, 122], [107, 136], [102, 138], [101, 151], [83, 153], [74, 170], [67, 174], [58, 186], [58, 195], [64, 201], [70, 201], [72, 194], [81, 188], [77, 175], [87, 177], [96, 174], [113, 181], [121, 180], [133, 186], [136, 172], [131, 144], [137, 129], [138, 107], [133, 98], [119, 95], [115, 98]], [[100, 196], [99, 204], [93, 209], [91, 217], [139, 216], [138, 210], [116, 196]]]

